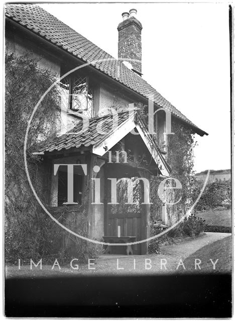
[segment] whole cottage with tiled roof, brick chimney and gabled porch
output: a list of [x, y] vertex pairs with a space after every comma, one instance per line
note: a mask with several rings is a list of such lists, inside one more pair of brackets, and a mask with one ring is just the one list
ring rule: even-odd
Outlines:
[[[48, 171], [48, 208], [55, 217], [63, 213], [63, 224], [79, 234], [79, 219], [74, 223], [73, 218], [79, 218], [85, 204], [86, 237], [108, 242], [116, 237], [141, 241], [150, 235], [150, 179], [171, 174], [168, 120], [206, 134], [144, 80], [142, 25], [135, 9], [122, 16], [116, 60], [38, 6], [6, 6], [8, 50], [31, 52], [58, 77], [58, 134], [35, 150]], [[142, 114], [146, 105], [149, 114], [158, 110], [153, 121], [157, 134], [149, 130], [151, 118], [147, 124]], [[163, 227], [168, 226], [166, 206], [162, 202], [159, 209]], [[76, 244], [65, 237], [63, 242], [76, 252]], [[146, 254], [147, 242], [129, 250]]]

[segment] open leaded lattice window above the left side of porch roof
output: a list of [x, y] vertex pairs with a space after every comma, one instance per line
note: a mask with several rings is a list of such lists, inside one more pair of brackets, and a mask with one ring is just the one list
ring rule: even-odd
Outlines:
[[75, 73], [60, 81], [61, 104], [63, 109], [71, 109], [91, 118], [93, 116], [93, 91], [88, 77]]

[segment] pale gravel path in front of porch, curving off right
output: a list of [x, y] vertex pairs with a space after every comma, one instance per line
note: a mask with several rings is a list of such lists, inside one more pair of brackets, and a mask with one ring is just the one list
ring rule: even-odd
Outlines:
[[[180, 270], [179, 264], [186, 257], [196, 252], [205, 245], [211, 244], [217, 240], [221, 240], [231, 234], [229, 233], [205, 233], [204, 235], [194, 238], [186, 239], [179, 243], [161, 246], [161, 254], [149, 255], [103, 255], [97, 260], [97, 264], [91, 265], [88, 269], [88, 264], [79, 264], [78, 269], [73, 269], [70, 264], [61, 266], [42, 265], [40, 267], [33, 267], [30, 265], [8, 266], [6, 268], [7, 277], [40, 277], [40, 276], [70, 276], [70, 275], [148, 275], [159, 273], [175, 273]], [[209, 260], [210, 258], [208, 258]], [[42, 262], [43, 263], [43, 262]], [[60, 263], [60, 262], [59, 262]], [[73, 262], [73, 266], [77, 264]], [[177, 266], [179, 268], [177, 269]], [[187, 266], [186, 270], [187, 270]], [[212, 269], [212, 265], [211, 265]]]

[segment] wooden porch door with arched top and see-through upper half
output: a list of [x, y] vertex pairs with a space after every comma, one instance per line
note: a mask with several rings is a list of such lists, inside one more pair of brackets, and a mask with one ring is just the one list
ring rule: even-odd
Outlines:
[[[115, 165], [115, 167], [114, 167]], [[119, 164], [109, 164], [106, 165], [105, 168], [105, 193], [104, 193], [104, 236], [119, 236], [118, 231], [120, 229], [120, 236], [135, 236], [136, 241], [145, 240], [148, 238], [148, 220], [149, 220], [149, 205], [143, 204], [144, 202], [144, 189], [143, 184], [141, 182], [136, 194], [135, 202], [136, 205], [125, 205], [127, 204], [127, 190], [124, 189], [124, 193], [118, 188], [117, 192], [117, 201], [118, 206], [109, 203], [111, 201], [111, 184], [108, 182], [107, 178], [113, 177], [129, 177], [129, 178], [137, 178], [138, 173], [135, 168], [125, 167], [124, 165]], [[118, 168], [117, 170], [115, 170]], [[132, 172], [130, 172], [132, 170]], [[144, 177], [144, 174], [142, 176]], [[120, 192], [120, 193], [119, 193]], [[141, 202], [138, 202], [140, 200]], [[125, 204], [124, 204], [125, 203]], [[120, 228], [119, 228], [120, 227]], [[134, 254], [147, 254], [148, 252], [148, 244], [147, 242], [142, 242], [140, 244], [132, 245], [132, 249]], [[125, 246], [115, 246], [115, 252], [125, 253]]]

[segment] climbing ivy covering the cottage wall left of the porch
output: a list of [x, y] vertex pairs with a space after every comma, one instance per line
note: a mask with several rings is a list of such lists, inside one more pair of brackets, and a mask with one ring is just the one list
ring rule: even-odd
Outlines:
[[[38, 100], [54, 83], [55, 75], [42, 69], [31, 55], [6, 52], [5, 96], [5, 248], [6, 262], [60, 257], [57, 246], [61, 230], [42, 210], [28, 183], [24, 164], [24, 140], [28, 121]], [[33, 155], [40, 140], [53, 137], [59, 112], [59, 96], [54, 87], [42, 100], [30, 126], [27, 160], [32, 183], [41, 200], [47, 202], [48, 176], [42, 159]], [[50, 119], [50, 122], [48, 122]]]

